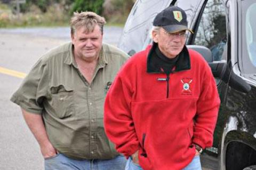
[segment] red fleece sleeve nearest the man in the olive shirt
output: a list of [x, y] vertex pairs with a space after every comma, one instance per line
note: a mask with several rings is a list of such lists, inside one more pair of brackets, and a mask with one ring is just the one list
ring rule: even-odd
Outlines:
[[121, 72], [110, 87], [104, 108], [106, 134], [115, 143], [116, 150], [126, 157], [139, 150], [139, 141], [131, 115], [132, 94], [131, 84], [122, 79]]

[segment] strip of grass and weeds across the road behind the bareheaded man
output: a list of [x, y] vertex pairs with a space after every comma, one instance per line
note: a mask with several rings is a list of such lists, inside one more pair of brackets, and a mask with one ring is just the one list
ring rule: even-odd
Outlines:
[[[46, 13], [38, 9], [31, 11], [34, 12], [21, 13], [18, 17], [7, 5], [0, 3], [0, 28], [69, 26], [69, 13], [57, 10], [54, 6], [50, 7]], [[115, 15], [107, 19], [106, 26], [124, 27], [125, 20], [123, 15]]]

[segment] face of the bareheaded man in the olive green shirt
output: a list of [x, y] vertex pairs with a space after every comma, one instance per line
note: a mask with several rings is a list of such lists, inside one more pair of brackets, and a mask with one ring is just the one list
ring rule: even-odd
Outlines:
[[102, 33], [98, 25], [95, 26], [92, 33], [86, 33], [84, 27], [78, 28], [71, 35], [74, 44], [74, 55], [85, 61], [98, 59], [102, 46]]

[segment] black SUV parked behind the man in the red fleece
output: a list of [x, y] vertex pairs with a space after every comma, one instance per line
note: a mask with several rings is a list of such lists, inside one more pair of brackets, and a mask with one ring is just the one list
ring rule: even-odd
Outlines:
[[186, 44], [209, 62], [221, 98], [214, 144], [204, 150], [202, 166], [256, 169], [256, 0], [138, 0], [118, 47], [130, 55], [143, 50], [152, 42], [153, 19], [170, 5], [186, 11], [194, 31]]

